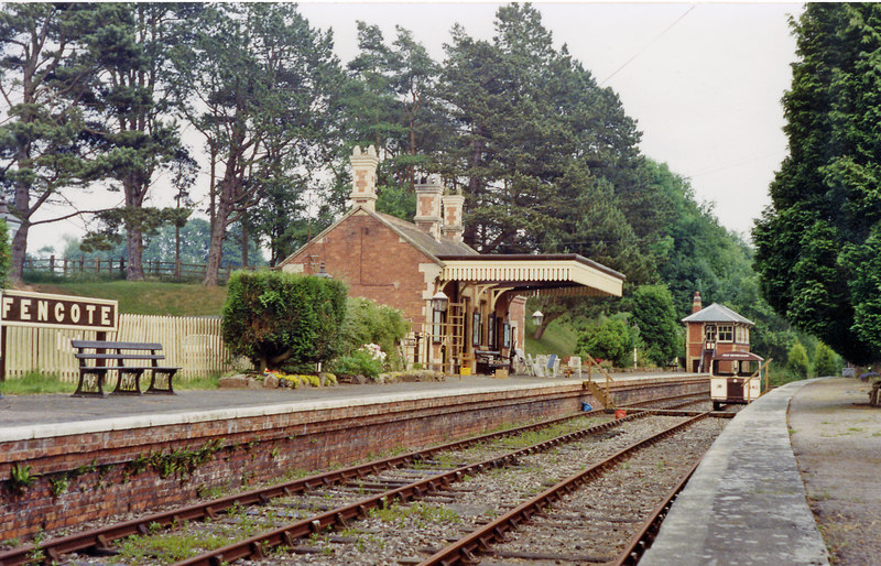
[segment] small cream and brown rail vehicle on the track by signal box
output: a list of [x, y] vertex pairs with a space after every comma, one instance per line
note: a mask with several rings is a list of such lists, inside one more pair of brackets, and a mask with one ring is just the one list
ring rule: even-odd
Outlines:
[[[713, 410], [721, 405], [746, 405], [762, 393], [764, 359], [748, 351], [717, 353], [710, 362], [709, 396]], [[765, 370], [766, 371], [766, 370]]]

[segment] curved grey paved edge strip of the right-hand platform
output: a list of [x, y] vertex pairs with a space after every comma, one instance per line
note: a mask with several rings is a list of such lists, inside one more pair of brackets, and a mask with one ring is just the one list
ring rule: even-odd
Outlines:
[[679, 493], [640, 565], [829, 563], [787, 425], [793, 395], [815, 382], [788, 383], [738, 413]]

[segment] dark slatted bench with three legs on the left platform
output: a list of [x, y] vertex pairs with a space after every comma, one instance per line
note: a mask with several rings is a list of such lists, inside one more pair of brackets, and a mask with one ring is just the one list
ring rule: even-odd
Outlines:
[[[172, 379], [181, 368], [161, 367], [162, 345], [155, 342], [111, 342], [105, 340], [70, 340], [79, 360], [79, 383], [74, 396], [104, 396], [107, 373], [118, 373], [117, 395], [140, 395], [141, 375], [150, 370], [150, 387], [145, 393], [174, 394]], [[86, 351], [94, 350], [94, 351]], [[94, 363], [89, 364], [89, 360]], [[127, 366], [126, 362], [135, 362]], [[108, 364], [108, 362], [110, 362]]]

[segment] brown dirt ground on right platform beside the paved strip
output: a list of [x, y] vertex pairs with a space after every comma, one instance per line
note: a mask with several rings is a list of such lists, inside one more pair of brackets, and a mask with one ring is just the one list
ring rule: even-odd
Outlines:
[[881, 407], [868, 383], [819, 380], [790, 404], [790, 434], [830, 560], [881, 564]]

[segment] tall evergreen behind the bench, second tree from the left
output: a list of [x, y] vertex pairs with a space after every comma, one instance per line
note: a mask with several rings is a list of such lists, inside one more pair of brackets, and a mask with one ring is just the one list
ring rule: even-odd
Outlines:
[[172, 51], [191, 33], [197, 4], [115, 4], [90, 47], [100, 65], [99, 80], [84, 99], [89, 129], [99, 152], [95, 166], [123, 193], [122, 206], [98, 214], [102, 230], [87, 239], [118, 239], [126, 235], [127, 279], [144, 277], [143, 236], [180, 217], [180, 210], [160, 210], [144, 203], [161, 167], [186, 163], [177, 127], [171, 121]]

